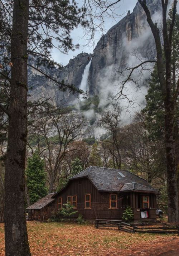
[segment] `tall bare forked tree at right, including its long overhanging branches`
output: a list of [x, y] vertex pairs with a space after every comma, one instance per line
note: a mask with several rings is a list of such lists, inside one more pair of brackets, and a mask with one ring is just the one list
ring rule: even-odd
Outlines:
[[[89, 6], [101, 6], [100, 8], [91, 8], [89, 11], [89, 16], [91, 20], [94, 20], [95, 17], [102, 17], [106, 11], [112, 8], [115, 4], [119, 3], [121, 0], [117, 0], [115, 2], [108, 1], [108, 3], [104, 3], [101, 0], [97, 0], [93, 2], [93, 5]], [[177, 161], [175, 154], [175, 134], [174, 134], [174, 113], [176, 103], [178, 102], [179, 96], [179, 78], [176, 79], [175, 86], [172, 83], [172, 73], [171, 73], [171, 53], [172, 53], [172, 37], [174, 32], [175, 18], [176, 18], [176, 3], [177, 0], [173, 0], [173, 7], [171, 12], [171, 19], [167, 19], [167, 9], [169, 6], [168, 0], [160, 0], [162, 6], [162, 24], [154, 23], [151, 18], [151, 13], [149, 10], [149, 5], [146, 0], [138, 0], [140, 5], [146, 14], [147, 23], [150, 26], [151, 32], [153, 34], [155, 40], [155, 48], [156, 48], [156, 60], [145, 60], [140, 62], [135, 67], [127, 67], [124, 72], [129, 71], [129, 75], [124, 79], [121, 83], [121, 87], [118, 95], [119, 98], [126, 98], [125, 93], [125, 85], [128, 81], [136, 83], [132, 74], [137, 69], [141, 69], [141, 72], [146, 69], [147, 63], [156, 63], [158, 70], [158, 77], [161, 87], [161, 92], [163, 95], [164, 102], [164, 110], [165, 110], [165, 152], [166, 152], [166, 166], [167, 166], [167, 187], [168, 187], [168, 221], [176, 222], [179, 220], [179, 206], [178, 206], [178, 190], [177, 190], [177, 182], [176, 182], [176, 170], [177, 170]], [[97, 13], [98, 12], [98, 13]], [[161, 42], [161, 26], [162, 26], [162, 36], [163, 43]]]

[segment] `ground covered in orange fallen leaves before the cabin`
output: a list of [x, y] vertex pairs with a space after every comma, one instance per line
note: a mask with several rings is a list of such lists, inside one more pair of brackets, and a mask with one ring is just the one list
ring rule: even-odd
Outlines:
[[[32, 256], [178, 256], [179, 236], [126, 233], [92, 224], [28, 222]], [[0, 224], [0, 256], [4, 256]]]

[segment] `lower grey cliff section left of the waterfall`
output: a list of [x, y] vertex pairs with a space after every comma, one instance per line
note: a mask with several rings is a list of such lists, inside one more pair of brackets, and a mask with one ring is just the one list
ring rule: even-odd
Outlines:
[[[45, 69], [41, 68], [45, 73], [49, 74], [59, 82], [66, 84], [73, 84], [77, 88], [82, 80], [82, 75], [86, 65], [91, 59], [91, 54], [80, 53], [74, 59], [71, 59], [67, 66], [62, 69]], [[30, 59], [30, 64], [36, 67], [33, 59]], [[59, 90], [58, 84], [51, 79], [46, 78], [43, 74], [33, 68], [28, 71], [28, 84], [29, 84], [29, 100], [38, 100], [39, 98], [49, 98], [53, 105], [60, 105], [65, 103], [70, 105], [74, 102], [77, 95], [67, 91]]]

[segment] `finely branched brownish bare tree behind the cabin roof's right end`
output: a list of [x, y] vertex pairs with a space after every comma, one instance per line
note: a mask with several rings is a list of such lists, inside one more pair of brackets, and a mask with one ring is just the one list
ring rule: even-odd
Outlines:
[[125, 165], [141, 174], [149, 183], [165, 174], [163, 141], [151, 141], [145, 115], [136, 113], [133, 122], [123, 128], [126, 135], [122, 143]]

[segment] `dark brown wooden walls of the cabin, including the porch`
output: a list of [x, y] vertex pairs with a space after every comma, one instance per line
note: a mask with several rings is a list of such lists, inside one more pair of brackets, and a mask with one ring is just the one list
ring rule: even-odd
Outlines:
[[[85, 209], [85, 195], [91, 194], [91, 208]], [[74, 217], [82, 214], [84, 219], [121, 219], [125, 211], [126, 205], [130, 205], [134, 210], [134, 218], [140, 218], [140, 208], [142, 208], [141, 193], [116, 193], [117, 208], [110, 208], [111, 192], [99, 192], [88, 178], [72, 180], [67, 188], [63, 189], [55, 197], [55, 208], [58, 209], [58, 198], [62, 198], [63, 204], [67, 202], [68, 196], [77, 195], [77, 213]], [[144, 195], [144, 194], [143, 194]], [[154, 194], [149, 195], [149, 207], [156, 208], [156, 200]], [[156, 218], [156, 210], [150, 210], [151, 218]]]

